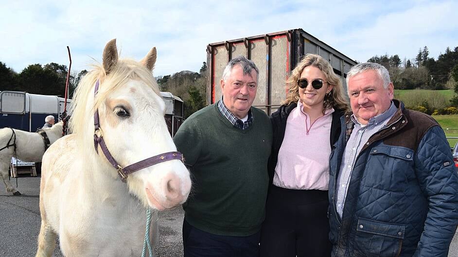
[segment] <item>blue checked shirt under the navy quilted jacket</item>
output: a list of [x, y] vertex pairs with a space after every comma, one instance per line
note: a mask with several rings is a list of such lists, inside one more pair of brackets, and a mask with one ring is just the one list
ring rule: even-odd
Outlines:
[[362, 126], [354, 114], [352, 115], [354, 128], [352, 130], [352, 134], [350, 135], [350, 139], [347, 142], [347, 146], [345, 147], [342, 161], [340, 162], [340, 171], [337, 177], [337, 185], [335, 189], [337, 194], [335, 204], [340, 217], [342, 217], [348, 184], [352, 176], [353, 165], [359, 155], [359, 152], [373, 134], [387, 126], [389, 119], [396, 111], [396, 106], [394, 106], [393, 102], [391, 102], [391, 106], [387, 111], [370, 118], [366, 126]]

